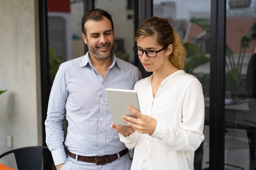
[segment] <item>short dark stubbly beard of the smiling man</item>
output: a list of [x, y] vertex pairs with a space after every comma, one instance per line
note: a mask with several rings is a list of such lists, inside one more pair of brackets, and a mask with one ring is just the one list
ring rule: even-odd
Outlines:
[[[93, 57], [96, 59], [104, 60], [112, 56], [114, 45], [111, 46], [110, 42], [106, 42], [105, 44], [102, 44], [102, 43], [97, 44], [95, 48], [93, 48], [89, 43], [87, 45], [88, 45], [89, 51], [93, 54]], [[108, 46], [109, 46], [109, 49], [105, 52], [98, 50], [98, 48], [102, 48], [102, 47], [104, 48]]]

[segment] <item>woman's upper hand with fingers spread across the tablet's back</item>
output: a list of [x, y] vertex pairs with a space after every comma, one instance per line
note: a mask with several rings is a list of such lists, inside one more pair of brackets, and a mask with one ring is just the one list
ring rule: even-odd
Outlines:
[[152, 135], [155, 132], [156, 127], [156, 119], [141, 114], [138, 110], [134, 109], [133, 107], [127, 106], [127, 109], [133, 112], [136, 116], [136, 118], [123, 115], [122, 118], [124, 119], [124, 122], [130, 125], [132, 128], [137, 130], [137, 132], [142, 134], [149, 134]]

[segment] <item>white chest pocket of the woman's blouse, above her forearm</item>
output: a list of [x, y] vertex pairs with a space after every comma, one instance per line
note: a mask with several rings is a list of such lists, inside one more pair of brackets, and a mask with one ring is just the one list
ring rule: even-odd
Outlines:
[[153, 104], [152, 117], [157, 121], [177, 127], [181, 119], [181, 115], [178, 115], [178, 105], [178, 102], [170, 100], [156, 101]]

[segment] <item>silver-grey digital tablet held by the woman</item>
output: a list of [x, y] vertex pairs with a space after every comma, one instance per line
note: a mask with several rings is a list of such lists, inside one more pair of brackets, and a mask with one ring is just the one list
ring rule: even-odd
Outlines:
[[137, 92], [135, 90], [122, 90], [122, 89], [110, 89], [106, 88], [108, 101], [110, 105], [110, 111], [113, 121], [116, 125], [126, 125], [122, 119], [122, 115], [128, 115], [137, 118], [126, 107], [131, 106], [140, 111]]

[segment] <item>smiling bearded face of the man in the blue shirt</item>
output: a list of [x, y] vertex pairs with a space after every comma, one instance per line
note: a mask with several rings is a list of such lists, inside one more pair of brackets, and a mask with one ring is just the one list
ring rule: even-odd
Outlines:
[[114, 30], [106, 17], [101, 21], [89, 20], [85, 24], [87, 37], [82, 33], [83, 41], [87, 44], [90, 57], [104, 60], [112, 56], [114, 48]]

